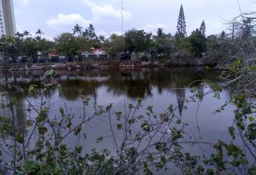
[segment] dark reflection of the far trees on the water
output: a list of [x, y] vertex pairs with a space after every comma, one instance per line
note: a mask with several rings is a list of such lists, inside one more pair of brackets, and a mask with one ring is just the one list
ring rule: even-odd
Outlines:
[[[9, 79], [19, 84], [24, 89], [29, 85], [40, 85], [43, 72], [13, 73]], [[154, 70], [91, 70], [88, 72], [63, 72], [53, 82], [61, 85], [59, 96], [68, 100], [76, 100], [81, 94], [95, 95], [99, 87], [107, 87], [114, 96], [125, 95], [130, 99], [145, 99], [152, 96], [152, 89], [157, 87], [157, 92], [164, 90], [177, 94], [177, 100], [182, 105], [185, 97], [184, 88], [195, 80], [215, 79], [215, 72], [204, 71], [203, 67], [176, 67], [170, 69]], [[193, 86], [199, 85], [194, 84]]]

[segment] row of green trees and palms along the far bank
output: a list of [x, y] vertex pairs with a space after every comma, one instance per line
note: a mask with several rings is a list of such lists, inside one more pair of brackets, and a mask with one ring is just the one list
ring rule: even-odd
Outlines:
[[105, 38], [105, 36], [96, 34], [93, 24], [85, 29], [76, 24], [72, 33], [62, 33], [53, 41], [45, 39], [44, 34], [39, 29], [35, 37], [27, 30], [23, 33], [16, 33], [15, 37], [3, 36], [0, 50], [9, 53], [8, 58], [15, 59], [18, 56], [47, 57], [52, 50], [62, 56], [74, 57], [82, 53], [91, 53], [91, 48], [104, 48], [111, 59], [119, 58], [122, 53], [133, 53], [135, 58], [145, 60], [169, 59], [174, 54], [187, 57], [208, 55], [225, 58], [227, 54], [235, 51], [230, 44], [234, 42], [234, 36], [227, 35], [224, 31], [219, 35], [206, 36], [204, 20], [188, 36], [183, 5], [180, 6], [177, 32], [174, 35], [165, 33], [163, 28], [157, 28], [155, 34], [147, 33], [145, 30], [131, 29], [124, 35], [111, 34], [110, 37]]

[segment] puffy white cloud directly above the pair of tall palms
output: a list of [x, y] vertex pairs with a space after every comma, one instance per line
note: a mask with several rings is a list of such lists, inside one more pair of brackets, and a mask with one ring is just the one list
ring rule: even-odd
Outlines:
[[58, 16], [53, 17], [52, 19], [47, 21], [47, 25], [52, 27], [55, 30], [71, 30], [75, 24], [79, 24], [82, 27], [88, 27], [90, 21], [84, 19], [80, 14], [74, 13], [65, 15], [59, 13]]

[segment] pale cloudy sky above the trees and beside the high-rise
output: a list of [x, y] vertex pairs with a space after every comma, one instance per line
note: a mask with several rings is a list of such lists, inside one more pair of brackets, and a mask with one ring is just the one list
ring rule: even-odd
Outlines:
[[[256, 0], [238, 0], [241, 10], [255, 11]], [[13, 0], [17, 31], [35, 33], [42, 29], [46, 37], [71, 32], [75, 24], [93, 24], [96, 33], [109, 36], [121, 33], [120, 0]], [[186, 16], [188, 34], [206, 21], [207, 34], [220, 33], [223, 20], [237, 16], [237, 0], [123, 0], [124, 28], [153, 32], [163, 27], [174, 34], [180, 4]]]

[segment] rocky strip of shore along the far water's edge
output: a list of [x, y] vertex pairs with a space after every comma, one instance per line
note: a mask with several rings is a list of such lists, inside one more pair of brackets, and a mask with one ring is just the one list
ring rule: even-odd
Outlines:
[[[91, 70], [91, 69], [135, 69], [135, 68], [156, 68], [156, 67], [215, 67], [216, 64], [200, 64], [173, 63], [167, 61], [155, 62], [138, 62], [138, 61], [101, 61], [101, 62], [68, 62], [68, 63], [22, 63], [22, 64], [7, 64], [6, 68], [10, 72], [30, 71], [30, 70]], [[1, 66], [0, 71], [4, 67]]]

